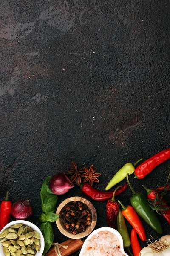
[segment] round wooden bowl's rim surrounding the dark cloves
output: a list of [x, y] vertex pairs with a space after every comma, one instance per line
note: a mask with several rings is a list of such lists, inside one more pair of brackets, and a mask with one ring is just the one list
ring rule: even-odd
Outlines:
[[88, 236], [93, 230], [94, 230], [94, 227], [96, 226], [96, 222], [97, 222], [97, 213], [96, 213], [96, 209], [94, 208], [94, 205], [91, 204], [90, 201], [88, 201], [87, 199], [85, 198], [82, 198], [82, 197], [79, 197], [79, 196], [74, 196], [74, 197], [71, 197], [71, 198], [67, 198], [65, 199], [60, 205], [59, 207], [57, 208], [57, 211], [56, 211], [56, 214], [59, 215], [60, 211], [62, 210], [62, 208], [68, 204], [69, 202], [73, 202], [73, 201], [79, 201], [79, 202], [82, 202], [83, 204], [85, 204], [88, 209], [90, 210], [91, 212], [91, 225], [86, 227], [86, 230], [85, 231], [82, 231], [81, 233], [79, 234], [76, 234], [76, 235], [73, 235], [71, 233], [69, 233], [65, 227], [64, 227], [64, 224], [62, 223], [62, 221], [60, 221], [60, 219], [58, 218], [58, 220], [56, 221], [56, 224], [57, 224], [57, 227], [59, 229], [59, 231], [64, 235], [64, 236], [67, 236], [69, 238], [72, 238], [72, 239], [80, 239], [80, 238], [83, 238], [85, 236]]

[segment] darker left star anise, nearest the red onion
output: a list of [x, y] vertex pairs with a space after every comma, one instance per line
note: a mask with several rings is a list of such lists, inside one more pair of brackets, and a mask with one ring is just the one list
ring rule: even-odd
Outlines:
[[69, 171], [66, 172], [66, 173], [68, 175], [72, 175], [71, 178], [70, 178], [71, 181], [80, 186], [80, 184], [81, 184], [81, 177], [84, 177], [82, 175], [83, 172], [85, 172], [84, 169], [79, 169], [77, 167], [77, 164], [72, 161], [71, 162], [71, 167], [69, 168]]

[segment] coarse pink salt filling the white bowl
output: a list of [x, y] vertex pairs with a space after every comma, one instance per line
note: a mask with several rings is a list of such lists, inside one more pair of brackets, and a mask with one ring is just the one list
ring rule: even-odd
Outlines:
[[120, 242], [113, 233], [100, 231], [86, 241], [82, 256], [125, 256], [120, 250]]

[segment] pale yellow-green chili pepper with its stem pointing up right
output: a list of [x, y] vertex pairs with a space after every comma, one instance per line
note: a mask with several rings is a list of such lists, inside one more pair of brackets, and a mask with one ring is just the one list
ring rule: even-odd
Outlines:
[[108, 183], [106, 186], [105, 190], [111, 189], [113, 186], [115, 186], [117, 183], [121, 182], [122, 180], [125, 179], [126, 175], [132, 174], [135, 171], [135, 166], [136, 164], [142, 161], [142, 159], [138, 160], [136, 163], [126, 163], [116, 174], [113, 176], [111, 181]]

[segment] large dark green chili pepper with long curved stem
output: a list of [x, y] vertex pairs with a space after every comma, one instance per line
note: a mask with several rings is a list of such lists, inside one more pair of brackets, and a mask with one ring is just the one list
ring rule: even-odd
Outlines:
[[162, 234], [162, 226], [159, 222], [159, 219], [156, 216], [156, 213], [153, 211], [153, 209], [150, 208], [147, 197], [142, 194], [141, 192], [136, 193], [132, 186], [130, 185], [128, 175], [127, 175], [127, 183], [130, 186], [130, 189], [133, 192], [132, 197], [130, 198], [130, 202], [132, 207], [135, 209], [135, 211], [141, 216], [146, 223], [153, 228], [157, 233]]

